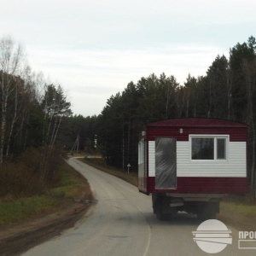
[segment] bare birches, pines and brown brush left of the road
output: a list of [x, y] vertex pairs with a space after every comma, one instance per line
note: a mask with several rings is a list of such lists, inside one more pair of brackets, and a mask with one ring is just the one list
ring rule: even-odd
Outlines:
[[0, 196], [40, 193], [54, 180], [70, 105], [61, 84], [32, 72], [20, 44], [0, 38]]

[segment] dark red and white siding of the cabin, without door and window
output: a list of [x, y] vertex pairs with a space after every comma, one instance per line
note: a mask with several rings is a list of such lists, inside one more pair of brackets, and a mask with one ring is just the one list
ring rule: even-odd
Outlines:
[[[180, 128], [183, 132], [179, 132]], [[218, 119], [173, 119], [149, 124], [145, 163], [141, 171], [147, 194], [159, 193], [247, 193], [247, 125]], [[192, 160], [191, 136], [227, 137], [224, 160]], [[177, 138], [177, 188], [155, 189], [155, 138]]]

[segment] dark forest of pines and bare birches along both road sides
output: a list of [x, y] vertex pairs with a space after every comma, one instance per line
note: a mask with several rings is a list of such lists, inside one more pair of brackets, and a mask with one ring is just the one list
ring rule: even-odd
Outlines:
[[[12, 48], [9, 44], [12, 44]], [[73, 115], [60, 84], [48, 84], [42, 74], [21, 63], [21, 49], [10, 38], [0, 42], [0, 166], [28, 148], [101, 153], [106, 164], [137, 172], [137, 142], [143, 126], [159, 120], [207, 117], [249, 125], [247, 170], [255, 198], [256, 39], [218, 55], [206, 75], [188, 74], [184, 84], [175, 75], [154, 73], [110, 96], [102, 113]], [[172, 72], [172, 70], [170, 71]], [[143, 75], [143, 74], [142, 74]], [[96, 143], [95, 143], [96, 141]], [[41, 165], [38, 173], [46, 177]], [[2, 172], [2, 171], [1, 171]]]

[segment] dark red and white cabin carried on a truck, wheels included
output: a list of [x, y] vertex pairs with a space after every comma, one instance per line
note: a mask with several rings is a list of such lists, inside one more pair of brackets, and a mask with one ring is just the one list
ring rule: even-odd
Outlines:
[[247, 193], [247, 130], [205, 118], [146, 125], [138, 143], [138, 189], [152, 195], [157, 218], [177, 211], [216, 218], [221, 198]]

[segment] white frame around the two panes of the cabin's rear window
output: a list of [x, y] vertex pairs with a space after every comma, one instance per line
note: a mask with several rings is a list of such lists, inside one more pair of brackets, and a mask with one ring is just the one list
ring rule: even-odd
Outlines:
[[[192, 159], [192, 138], [213, 138], [214, 139], [214, 155], [213, 160], [200, 160]], [[225, 159], [217, 159], [217, 139], [218, 138], [224, 138], [225, 139]], [[223, 161], [227, 162], [229, 160], [229, 142], [230, 142], [230, 136], [229, 135], [213, 135], [213, 134], [190, 134], [189, 135], [189, 160], [190, 161], [204, 161], [204, 162], [210, 162], [210, 161]]]

